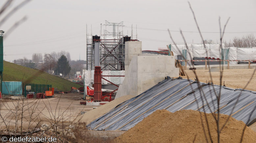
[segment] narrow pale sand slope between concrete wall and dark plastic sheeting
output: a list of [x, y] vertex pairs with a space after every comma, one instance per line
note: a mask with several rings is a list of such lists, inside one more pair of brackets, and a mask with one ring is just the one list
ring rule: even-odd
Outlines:
[[97, 119], [100, 116], [103, 116], [113, 108], [115, 108], [118, 104], [135, 97], [134, 95], [126, 95], [122, 96], [120, 98], [116, 98], [115, 100], [108, 102], [107, 104], [101, 105], [96, 109], [90, 110], [89, 112], [86, 112], [84, 116], [82, 117], [81, 121], [86, 122], [86, 124], [89, 124], [93, 120]]

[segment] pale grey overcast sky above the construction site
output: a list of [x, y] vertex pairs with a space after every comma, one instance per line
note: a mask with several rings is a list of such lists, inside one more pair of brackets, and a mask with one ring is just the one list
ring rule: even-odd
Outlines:
[[[6, 0], [1, 0], [2, 6]], [[16, 0], [11, 8], [19, 4]], [[223, 27], [228, 17], [224, 39], [256, 33], [255, 0], [191, 0], [202, 32], [219, 32], [218, 18]], [[4, 15], [7, 13], [6, 11]], [[137, 33], [142, 50], [158, 50], [171, 43], [170, 30], [197, 31], [187, 0], [32, 0], [13, 14], [1, 27], [8, 29], [22, 17], [27, 20], [4, 38], [4, 59], [13, 61], [22, 57], [31, 59], [33, 53], [69, 51], [72, 60], [86, 60], [86, 24], [88, 32], [100, 34], [100, 24], [124, 22], [124, 34]], [[0, 19], [3, 18], [3, 15]], [[183, 39], [179, 32], [171, 32], [177, 43]], [[204, 39], [218, 40], [219, 33], [202, 33]], [[185, 32], [188, 43], [201, 43], [199, 33]], [[135, 37], [134, 37], [135, 39]]]

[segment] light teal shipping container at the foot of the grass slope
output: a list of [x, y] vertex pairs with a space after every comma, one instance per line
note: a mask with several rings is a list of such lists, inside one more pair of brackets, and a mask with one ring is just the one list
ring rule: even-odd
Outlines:
[[2, 94], [22, 95], [22, 82], [21, 81], [3, 81]]

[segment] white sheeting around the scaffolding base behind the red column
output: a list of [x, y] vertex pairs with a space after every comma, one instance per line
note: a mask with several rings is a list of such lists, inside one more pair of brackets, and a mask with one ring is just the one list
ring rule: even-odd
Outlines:
[[[101, 75], [104, 76], [124, 76], [124, 71], [112, 71], [112, 70], [104, 70], [102, 71]], [[85, 81], [85, 85], [86, 86], [91, 86], [94, 83], [94, 70], [84, 70], [83, 71], [84, 74], [84, 81]], [[106, 80], [111, 81], [114, 84], [122, 84], [124, 77], [103, 77]], [[106, 80], [101, 80], [102, 84], [111, 84], [110, 82], [106, 81]]]

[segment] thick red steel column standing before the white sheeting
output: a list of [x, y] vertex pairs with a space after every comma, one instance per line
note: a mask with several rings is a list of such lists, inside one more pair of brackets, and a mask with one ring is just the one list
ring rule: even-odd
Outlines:
[[94, 101], [101, 101], [101, 67], [94, 68]]

